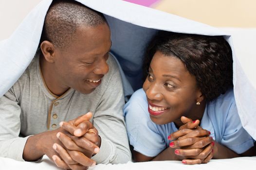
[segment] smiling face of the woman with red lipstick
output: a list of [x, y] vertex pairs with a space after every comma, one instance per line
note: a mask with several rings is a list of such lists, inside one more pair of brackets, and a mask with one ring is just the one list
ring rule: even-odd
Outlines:
[[165, 56], [157, 51], [150, 63], [149, 73], [144, 82], [150, 119], [156, 124], [176, 122], [180, 118], [197, 118], [201, 91], [196, 78], [189, 73], [183, 62], [174, 56]]

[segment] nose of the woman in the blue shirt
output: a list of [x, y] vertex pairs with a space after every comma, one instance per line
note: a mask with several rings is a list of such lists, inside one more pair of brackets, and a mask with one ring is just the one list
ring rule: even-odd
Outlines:
[[156, 85], [155, 83], [151, 84], [147, 89], [146, 89], [146, 96], [149, 100], [157, 100], [161, 101], [163, 100], [163, 94], [161, 93], [160, 87]]

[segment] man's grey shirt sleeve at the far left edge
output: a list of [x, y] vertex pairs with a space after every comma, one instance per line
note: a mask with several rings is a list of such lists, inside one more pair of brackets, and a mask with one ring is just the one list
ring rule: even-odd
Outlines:
[[27, 137], [19, 137], [20, 106], [13, 87], [0, 98], [0, 157], [24, 161], [23, 150]]

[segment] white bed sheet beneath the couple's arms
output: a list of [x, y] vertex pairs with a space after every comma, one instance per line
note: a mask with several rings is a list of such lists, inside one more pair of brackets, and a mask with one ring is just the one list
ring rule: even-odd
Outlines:
[[[183, 165], [181, 161], [152, 161], [117, 165], [99, 164], [89, 170], [256, 170], [256, 156], [238, 157], [232, 159], [212, 159], [207, 164]], [[44, 156], [39, 163], [19, 162], [9, 158], [0, 157], [0, 170], [60, 170], [55, 164]]]

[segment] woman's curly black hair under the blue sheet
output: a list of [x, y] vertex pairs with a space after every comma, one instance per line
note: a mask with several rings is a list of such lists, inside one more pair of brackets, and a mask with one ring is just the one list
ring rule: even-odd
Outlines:
[[207, 102], [233, 86], [232, 50], [222, 36], [160, 31], [146, 50], [143, 66], [145, 76], [156, 51], [179, 58], [190, 74], [195, 76]]

